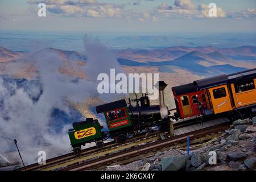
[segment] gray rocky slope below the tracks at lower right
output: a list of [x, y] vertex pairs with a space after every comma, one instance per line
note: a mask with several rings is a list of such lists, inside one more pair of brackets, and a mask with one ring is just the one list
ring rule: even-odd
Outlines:
[[[209, 164], [209, 151], [217, 154], [217, 164]], [[122, 166], [108, 166], [107, 170], [137, 171], [246, 171], [256, 170], [256, 117], [233, 122], [217, 140], [201, 148], [187, 151], [171, 149], [157, 152]]]

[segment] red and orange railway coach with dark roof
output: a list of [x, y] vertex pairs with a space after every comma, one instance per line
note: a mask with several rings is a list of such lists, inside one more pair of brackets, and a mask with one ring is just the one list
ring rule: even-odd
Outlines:
[[256, 69], [218, 75], [172, 88], [175, 119], [229, 114], [243, 118], [256, 113]]

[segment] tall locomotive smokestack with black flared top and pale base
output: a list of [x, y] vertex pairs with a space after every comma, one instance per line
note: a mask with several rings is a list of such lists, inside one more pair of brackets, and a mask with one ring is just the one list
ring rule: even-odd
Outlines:
[[166, 88], [167, 84], [164, 81], [158, 81], [155, 87], [159, 90], [159, 106], [160, 106], [160, 113], [161, 117], [167, 118], [169, 115], [168, 108], [164, 103], [164, 89]]

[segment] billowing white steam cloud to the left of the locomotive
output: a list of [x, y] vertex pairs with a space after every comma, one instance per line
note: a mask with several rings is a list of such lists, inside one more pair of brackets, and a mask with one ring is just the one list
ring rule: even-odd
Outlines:
[[[85, 53], [88, 62], [84, 71], [89, 80], [78, 81], [59, 72], [63, 60], [56, 52], [44, 49], [22, 57], [28, 61], [35, 61], [43, 87], [38, 101], [31, 99], [31, 95], [36, 96], [40, 93], [38, 87], [28, 88], [28, 94], [15, 82], [6, 85], [0, 77], [0, 154], [15, 151], [14, 139], [18, 140], [18, 145], [23, 150], [35, 148], [39, 144], [51, 144], [55, 150], [51, 151], [53, 155], [71, 151], [68, 129], [72, 127], [73, 121], [58, 126], [58, 132], [54, 132], [51, 128], [52, 109], [58, 108], [69, 114], [69, 101], [82, 102], [90, 96], [97, 95], [98, 73], [108, 73], [110, 68], [119, 70], [115, 57], [100, 42], [85, 39]], [[13, 92], [10, 92], [10, 88]], [[42, 147], [39, 148], [42, 150]], [[38, 151], [23, 153], [24, 162], [36, 162]], [[52, 156], [47, 156], [50, 157]]]

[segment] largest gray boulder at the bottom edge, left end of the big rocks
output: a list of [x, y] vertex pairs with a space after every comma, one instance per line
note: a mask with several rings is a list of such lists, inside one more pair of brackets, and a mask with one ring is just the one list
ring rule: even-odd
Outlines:
[[177, 171], [185, 167], [188, 155], [171, 156], [169, 158], [163, 158], [161, 160], [162, 171]]

